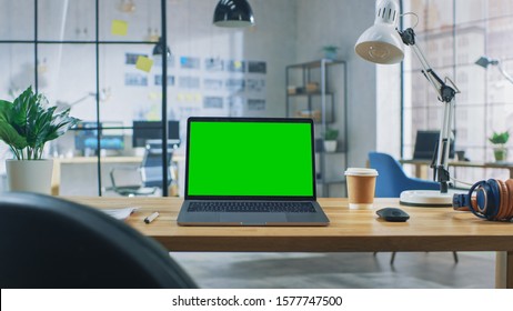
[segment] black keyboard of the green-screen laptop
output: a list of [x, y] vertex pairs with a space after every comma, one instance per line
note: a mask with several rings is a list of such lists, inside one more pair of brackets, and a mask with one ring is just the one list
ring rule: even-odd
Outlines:
[[191, 202], [189, 212], [289, 212], [315, 213], [310, 202]]

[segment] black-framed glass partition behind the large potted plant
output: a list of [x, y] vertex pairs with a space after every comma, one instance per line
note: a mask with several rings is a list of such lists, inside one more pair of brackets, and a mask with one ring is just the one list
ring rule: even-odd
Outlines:
[[[165, 0], [0, 0], [0, 6], [6, 68], [0, 98], [13, 100], [32, 86], [81, 120], [47, 146], [46, 158], [57, 167], [53, 194], [119, 195], [111, 172], [121, 169], [127, 174], [120, 183], [141, 184], [144, 146], [132, 146], [133, 122], [157, 121], [162, 141], [167, 133], [168, 81], [161, 77], [168, 59], [153, 56], [165, 38]], [[2, 160], [12, 157], [3, 142], [0, 151]], [[160, 154], [165, 163], [169, 156]], [[158, 193], [168, 195], [162, 185], [171, 175], [162, 169], [160, 174]]]

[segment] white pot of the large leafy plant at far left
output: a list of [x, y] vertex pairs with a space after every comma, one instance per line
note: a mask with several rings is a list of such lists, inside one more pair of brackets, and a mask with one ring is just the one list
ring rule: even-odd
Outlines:
[[9, 191], [51, 194], [53, 160], [7, 160]]

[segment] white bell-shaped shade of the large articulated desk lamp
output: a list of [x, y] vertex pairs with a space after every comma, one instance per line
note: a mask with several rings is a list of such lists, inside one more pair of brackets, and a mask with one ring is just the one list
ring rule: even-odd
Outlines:
[[376, 4], [374, 24], [356, 41], [354, 50], [361, 58], [375, 63], [396, 63], [403, 60], [403, 42], [395, 29], [399, 3], [382, 0]]

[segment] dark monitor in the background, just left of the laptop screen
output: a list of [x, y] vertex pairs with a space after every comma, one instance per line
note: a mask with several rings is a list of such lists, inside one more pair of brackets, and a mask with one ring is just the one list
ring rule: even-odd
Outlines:
[[[162, 139], [161, 121], [133, 121], [132, 147], [145, 147], [149, 140]], [[180, 121], [168, 121], [168, 141], [180, 142]]]

